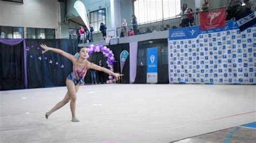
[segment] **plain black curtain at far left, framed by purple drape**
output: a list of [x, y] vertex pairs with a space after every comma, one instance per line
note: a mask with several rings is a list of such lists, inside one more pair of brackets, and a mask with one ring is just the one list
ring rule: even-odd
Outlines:
[[0, 44], [0, 90], [24, 89], [23, 42], [15, 46]]

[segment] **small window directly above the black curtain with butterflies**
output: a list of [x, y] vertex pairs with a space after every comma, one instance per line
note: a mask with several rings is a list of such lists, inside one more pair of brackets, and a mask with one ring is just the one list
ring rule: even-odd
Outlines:
[[28, 39], [55, 39], [55, 29], [48, 28], [26, 28]]

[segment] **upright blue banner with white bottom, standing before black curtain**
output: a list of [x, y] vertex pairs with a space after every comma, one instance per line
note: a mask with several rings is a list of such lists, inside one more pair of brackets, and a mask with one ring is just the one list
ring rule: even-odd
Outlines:
[[157, 47], [147, 48], [147, 83], [157, 83]]

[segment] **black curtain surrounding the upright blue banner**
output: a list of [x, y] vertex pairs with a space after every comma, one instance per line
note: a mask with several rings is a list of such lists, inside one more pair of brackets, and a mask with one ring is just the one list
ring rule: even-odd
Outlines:
[[[152, 41], [152, 42], [149, 42]], [[167, 39], [147, 40], [138, 42], [137, 71], [134, 83], [145, 84], [147, 80], [147, 48], [158, 48], [158, 82], [169, 83], [168, 73], [168, 41]]]

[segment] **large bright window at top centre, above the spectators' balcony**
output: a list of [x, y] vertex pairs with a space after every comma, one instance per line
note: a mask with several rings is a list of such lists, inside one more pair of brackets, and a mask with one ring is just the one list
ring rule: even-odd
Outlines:
[[134, 1], [134, 13], [138, 23], [172, 18], [180, 13], [180, 0], [137, 0]]

